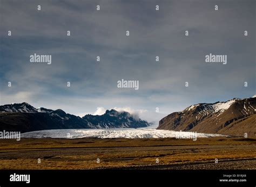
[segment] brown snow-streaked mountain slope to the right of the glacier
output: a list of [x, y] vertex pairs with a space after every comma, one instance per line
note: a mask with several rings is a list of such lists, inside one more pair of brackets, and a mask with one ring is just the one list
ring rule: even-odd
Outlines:
[[256, 98], [199, 103], [174, 112], [159, 121], [158, 129], [254, 136]]

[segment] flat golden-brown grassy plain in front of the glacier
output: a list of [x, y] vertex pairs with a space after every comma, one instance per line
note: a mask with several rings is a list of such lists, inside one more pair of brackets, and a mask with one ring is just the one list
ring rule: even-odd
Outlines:
[[[218, 163], [215, 163], [216, 158]], [[256, 139], [214, 137], [198, 138], [197, 141], [175, 138], [0, 140], [0, 169], [106, 168], [256, 169]]]

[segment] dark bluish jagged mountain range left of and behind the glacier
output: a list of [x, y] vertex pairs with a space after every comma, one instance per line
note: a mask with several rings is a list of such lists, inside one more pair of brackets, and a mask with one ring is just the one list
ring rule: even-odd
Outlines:
[[0, 130], [22, 133], [46, 129], [138, 128], [149, 125], [128, 112], [114, 109], [106, 110], [103, 115], [79, 117], [61, 109], [36, 109], [26, 102], [0, 106]]

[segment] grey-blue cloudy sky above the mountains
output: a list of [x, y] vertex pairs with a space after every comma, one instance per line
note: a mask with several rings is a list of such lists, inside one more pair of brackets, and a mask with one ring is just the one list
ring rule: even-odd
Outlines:
[[[0, 0], [0, 16], [1, 105], [152, 116], [156, 107], [169, 114], [255, 94], [254, 0]], [[51, 65], [30, 63], [34, 53], [51, 54]], [[210, 53], [227, 55], [227, 64], [206, 63]], [[139, 80], [139, 89], [117, 88], [121, 79]]]

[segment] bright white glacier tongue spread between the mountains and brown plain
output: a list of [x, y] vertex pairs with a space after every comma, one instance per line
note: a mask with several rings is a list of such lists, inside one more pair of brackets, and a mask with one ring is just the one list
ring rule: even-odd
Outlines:
[[[165, 138], [179, 137], [187, 138], [193, 132], [157, 130], [157, 129], [60, 129], [60, 130], [40, 130], [21, 134], [25, 138]], [[197, 137], [225, 136], [220, 134], [196, 133]]]

